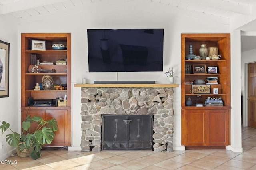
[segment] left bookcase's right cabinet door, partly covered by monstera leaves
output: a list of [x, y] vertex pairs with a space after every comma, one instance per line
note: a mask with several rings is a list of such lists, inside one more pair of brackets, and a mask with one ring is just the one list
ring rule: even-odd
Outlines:
[[46, 120], [55, 118], [58, 131], [50, 146], [68, 146], [68, 110], [47, 110]]

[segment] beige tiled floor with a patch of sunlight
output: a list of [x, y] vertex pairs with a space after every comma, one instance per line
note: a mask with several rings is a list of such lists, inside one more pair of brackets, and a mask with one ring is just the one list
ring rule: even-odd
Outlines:
[[94, 153], [44, 150], [37, 160], [9, 157], [7, 160], [13, 160], [13, 164], [1, 163], [0, 170], [256, 170], [256, 129], [242, 127], [242, 147], [243, 153], [228, 150]]

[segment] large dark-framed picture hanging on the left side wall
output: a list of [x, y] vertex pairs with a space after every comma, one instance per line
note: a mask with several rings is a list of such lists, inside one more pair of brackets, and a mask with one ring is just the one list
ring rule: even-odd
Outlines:
[[0, 40], [0, 97], [9, 97], [10, 43]]

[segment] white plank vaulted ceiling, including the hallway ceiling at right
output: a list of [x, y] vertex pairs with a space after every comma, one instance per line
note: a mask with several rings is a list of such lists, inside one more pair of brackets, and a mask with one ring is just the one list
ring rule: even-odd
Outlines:
[[[196, 14], [208, 15], [216, 20], [223, 20], [229, 24], [230, 18], [237, 14], [249, 15], [251, 6], [256, 0], [0, 0], [0, 15], [11, 14], [15, 18], [38, 16], [49, 12], [81, 9], [80, 6], [101, 3], [142, 2], [156, 3]], [[244, 31], [256, 31], [256, 24], [250, 23]], [[246, 51], [256, 47], [256, 36], [242, 36], [241, 50]], [[247, 42], [250, 42], [247, 44]], [[249, 45], [249, 46], [248, 46]]]

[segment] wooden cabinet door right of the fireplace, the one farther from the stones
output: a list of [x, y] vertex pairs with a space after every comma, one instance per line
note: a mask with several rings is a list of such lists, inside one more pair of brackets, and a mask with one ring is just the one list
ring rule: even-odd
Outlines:
[[228, 145], [228, 109], [206, 111], [207, 146]]

